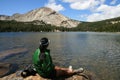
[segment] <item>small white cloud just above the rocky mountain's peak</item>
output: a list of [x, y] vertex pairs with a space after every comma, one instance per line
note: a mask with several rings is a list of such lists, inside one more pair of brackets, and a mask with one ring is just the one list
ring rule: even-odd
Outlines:
[[48, 0], [48, 3], [45, 4], [45, 6], [57, 12], [65, 10], [65, 8], [61, 4], [57, 4], [55, 0]]

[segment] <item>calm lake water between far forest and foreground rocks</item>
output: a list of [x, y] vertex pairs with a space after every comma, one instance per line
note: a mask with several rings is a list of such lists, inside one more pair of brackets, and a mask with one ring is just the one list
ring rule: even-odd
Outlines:
[[32, 63], [32, 55], [42, 37], [49, 38], [51, 56], [56, 65], [83, 67], [100, 80], [120, 80], [120, 34], [95, 32], [10, 32], [0, 33], [0, 51], [26, 48], [2, 62], [16, 63], [19, 69]]

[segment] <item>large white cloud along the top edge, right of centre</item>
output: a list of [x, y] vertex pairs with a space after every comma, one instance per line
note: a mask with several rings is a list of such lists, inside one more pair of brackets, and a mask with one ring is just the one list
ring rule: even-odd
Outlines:
[[76, 10], [91, 9], [105, 2], [105, 0], [62, 0], [62, 1], [65, 3], [69, 3], [70, 7]]

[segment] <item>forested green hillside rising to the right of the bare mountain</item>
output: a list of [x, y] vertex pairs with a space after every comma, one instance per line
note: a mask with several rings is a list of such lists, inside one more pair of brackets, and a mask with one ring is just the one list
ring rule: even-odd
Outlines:
[[120, 32], [120, 17], [97, 22], [82, 22], [74, 31]]

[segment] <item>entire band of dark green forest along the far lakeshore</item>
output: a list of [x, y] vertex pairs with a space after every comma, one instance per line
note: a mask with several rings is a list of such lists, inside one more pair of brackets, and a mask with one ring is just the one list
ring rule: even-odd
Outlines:
[[57, 27], [43, 21], [17, 22], [0, 21], [0, 32], [54, 32], [54, 31], [94, 31], [94, 32], [120, 32], [120, 17], [98, 22], [82, 22], [74, 28]]

